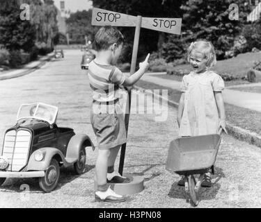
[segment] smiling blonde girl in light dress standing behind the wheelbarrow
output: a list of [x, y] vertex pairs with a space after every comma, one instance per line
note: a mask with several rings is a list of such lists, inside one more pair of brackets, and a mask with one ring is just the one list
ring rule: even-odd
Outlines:
[[[182, 80], [177, 111], [179, 136], [216, 134], [220, 127], [226, 132], [222, 96], [224, 82], [221, 76], [210, 70], [216, 64], [214, 46], [205, 40], [192, 42], [188, 49], [188, 61], [193, 71]], [[184, 185], [183, 178], [178, 185]], [[211, 186], [210, 173], [205, 174], [202, 186]]]

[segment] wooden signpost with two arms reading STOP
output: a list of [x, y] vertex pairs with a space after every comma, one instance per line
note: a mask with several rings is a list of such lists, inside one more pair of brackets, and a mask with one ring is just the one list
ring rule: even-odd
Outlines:
[[[170, 18], [147, 18], [137, 17], [132, 15], [125, 15], [118, 12], [112, 12], [109, 10], [103, 10], [100, 8], [93, 8], [92, 25], [93, 26], [130, 26], [136, 27], [134, 36], [134, 46], [132, 51], [132, 65], [130, 74], [134, 74], [136, 69], [136, 61], [139, 49], [139, 35], [141, 28], [148, 28], [155, 31], [161, 31], [165, 33], [172, 33], [180, 35], [182, 19], [170, 19]], [[126, 133], [129, 128], [129, 114], [132, 103], [132, 93], [128, 92], [128, 105], [125, 112], [125, 126]], [[119, 173], [122, 175], [124, 160], [125, 160], [126, 144], [122, 144], [120, 151], [120, 165]]]

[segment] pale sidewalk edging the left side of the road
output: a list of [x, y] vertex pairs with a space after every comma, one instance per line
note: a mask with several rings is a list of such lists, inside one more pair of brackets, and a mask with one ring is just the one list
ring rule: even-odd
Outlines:
[[0, 80], [6, 80], [9, 78], [17, 78], [19, 76], [24, 76], [26, 74], [30, 74], [35, 69], [39, 69], [42, 65], [45, 65], [45, 62], [52, 59], [54, 56], [54, 52], [47, 54], [47, 56], [42, 56], [39, 60], [29, 62], [24, 65], [22, 69], [11, 69], [9, 71], [0, 72]]

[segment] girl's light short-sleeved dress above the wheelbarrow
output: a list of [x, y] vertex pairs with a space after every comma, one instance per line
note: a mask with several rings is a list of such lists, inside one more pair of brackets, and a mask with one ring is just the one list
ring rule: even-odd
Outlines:
[[224, 89], [224, 81], [214, 71], [183, 77], [181, 91], [185, 92], [180, 137], [215, 134], [219, 127], [219, 112], [214, 92]]

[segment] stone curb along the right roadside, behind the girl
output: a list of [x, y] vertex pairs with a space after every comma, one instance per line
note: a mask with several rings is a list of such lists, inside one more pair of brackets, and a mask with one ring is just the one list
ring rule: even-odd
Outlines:
[[[154, 94], [151, 90], [143, 89], [142, 87], [137, 87], [137, 86], [134, 86], [134, 89], [138, 89], [141, 92], [144, 92], [145, 94], [152, 94], [159, 99], [167, 101], [169, 105], [178, 108], [179, 105], [178, 103], [165, 99], [162, 96], [159, 96], [158, 94]], [[243, 128], [240, 128], [239, 126], [233, 126], [228, 121], [226, 121], [226, 129], [228, 131], [228, 134], [234, 137], [235, 139], [248, 142], [248, 144], [253, 144], [261, 148], [261, 135], [258, 135], [257, 133], [253, 133], [250, 130], [245, 130]]]

